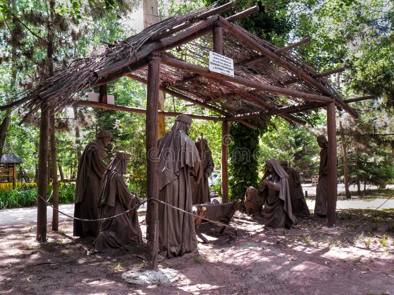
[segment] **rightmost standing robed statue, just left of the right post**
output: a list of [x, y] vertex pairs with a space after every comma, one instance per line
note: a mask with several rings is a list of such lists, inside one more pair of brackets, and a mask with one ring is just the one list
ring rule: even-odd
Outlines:
[[320, 148], [319, 180], [316, 187], [315, 215], [327, 216], [327, 155], [328, 141], [324, 135], [317, 137]]

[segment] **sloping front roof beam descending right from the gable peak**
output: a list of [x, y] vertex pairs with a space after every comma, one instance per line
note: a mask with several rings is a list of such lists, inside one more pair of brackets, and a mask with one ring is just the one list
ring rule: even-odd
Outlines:
[[290, 62], [286, 61], [285, 59], [282, 59], [279, 57], [277, 54], [274, 52], [270, 51], [269, 49], [265, 48], [258, 42], [256, 42], [252, 37], [249, 35], [245, 34], [245, 32], [242, 29], [239, 29], [238, 27], [235, 27], [233, 24], [229, 23], [226, 19], [223, 17], [219, 16], [219, 20], [222, 21], [223, 27], [228, 29], [230, 32], [232, 32], [235, 36], [237, 36], [240, 40], [243, 40], [247, 42], [250, 46], [252, 46], [255, 50], [261, 52], [263, 55], [267, 56], [269, 59], [275, 61], [277, 64], [281, 65], [288, 71], [292, 72], [295, 74], [297, 77], [300, 77], [302, 80], [304, 80], [306, 83], [308, 83], [311, 86], [314, 86], [316, 89], [321, 91], [324, 95], [327, 96], [332, 96], [333, 99], [335, 99], [335, 102], [338, 106], [343, 108], [346, 112], [348, 112], [353, 118], [358, 118], [359, 115], [357, 112], [349, 107], [346, 103], [342, 101], [337, 95], [334, 93], [331, 93], [329, 89], [324, 87], [320, 82], [312, 78], [311, 76], [307, 75], [300, 69], [298, 69], [295, 65], [291, 64]]

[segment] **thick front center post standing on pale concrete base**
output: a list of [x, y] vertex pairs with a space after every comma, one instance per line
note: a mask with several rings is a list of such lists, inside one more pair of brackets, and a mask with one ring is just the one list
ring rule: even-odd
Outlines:
[[[158, 146], [157, 146], [157, 125], [159, 107], [159, 84], [160, 84], [160, 60], [157, 52], [148, 63], [148, 84], [146, 100], [146, 157], [147, 166], [147, 197], [148, 199], [158, 199]], [[146, 210], [146, 250], [148, 257], [148, 269], [158, 270], [159, 252], [159, 207], [154, 201], [148, 202]]]

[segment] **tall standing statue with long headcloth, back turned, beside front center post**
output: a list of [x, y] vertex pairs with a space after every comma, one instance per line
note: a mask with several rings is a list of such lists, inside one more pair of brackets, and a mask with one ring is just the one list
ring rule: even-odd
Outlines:
[[[192, 118], [178, 115], [171, 131], [158, 142], [159, 200], [187, 212], [193, 211], [190, 176], [198, 182], [201, 163], [188, 136]], [[159, 203], [159, 257], [171, 258], [197, 252], [193, 216]]]

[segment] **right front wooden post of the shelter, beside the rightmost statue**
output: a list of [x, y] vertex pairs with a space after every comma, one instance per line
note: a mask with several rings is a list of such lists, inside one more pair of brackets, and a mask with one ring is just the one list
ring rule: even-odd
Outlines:
[[328, 135], [328, 156], [327, 156], [327, 225], [335, 226], [336, 209], [336, 126], [335, 126], [335, 101], [327, 104], [327, 135]]

